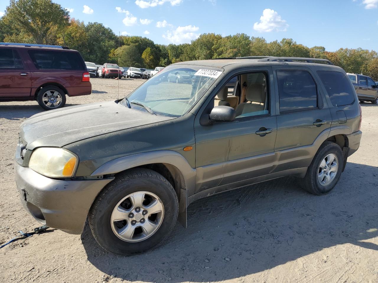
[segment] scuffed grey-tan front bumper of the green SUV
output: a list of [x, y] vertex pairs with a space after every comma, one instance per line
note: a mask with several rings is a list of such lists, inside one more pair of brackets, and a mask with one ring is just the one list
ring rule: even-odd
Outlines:
[[81, 234], [98, 193], [113, 178], [56, 180], [14, 162], [17, 189], [23, 207], [37, 221], [70, 234]]

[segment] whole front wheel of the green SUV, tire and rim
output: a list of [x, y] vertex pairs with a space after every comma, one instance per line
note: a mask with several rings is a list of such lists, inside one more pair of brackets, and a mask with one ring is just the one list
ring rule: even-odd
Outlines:
[[164, 241], [177, 215], [177, 195], [167, 179], [137, 168], [118, 174], [105, 187], [90, 209], [88, 222], [102, 248], [131, 255]]

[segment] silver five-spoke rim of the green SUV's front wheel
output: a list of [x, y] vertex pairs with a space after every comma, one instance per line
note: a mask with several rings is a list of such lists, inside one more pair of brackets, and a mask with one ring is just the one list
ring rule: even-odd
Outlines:
[[123, 241], [139, 242], [151, 237], [164, 218], [164, 205], [152, 192], [133, 192], [122, 198], [113, 209], [110, 225]]

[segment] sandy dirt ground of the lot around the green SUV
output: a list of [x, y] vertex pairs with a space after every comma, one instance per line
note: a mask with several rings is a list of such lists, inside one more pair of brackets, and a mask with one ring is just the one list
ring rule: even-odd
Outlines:
[[[113, 100], [141, 79], [91, 79], [93, 94], [67, 104]], [[285, 177], [196, 201], [188, 228], [164, 245], [121, 257], [102, 250], [90, 229], [49, 229], [0, 250], [0, 282], [378, 282], [378, 106], [363, 109], [359, 150], [335, 189], [314, 196]], [[13, 155], [20, 124], [36, 102], [0, 103], [0, 243], [40, 226], [19, 201]]]

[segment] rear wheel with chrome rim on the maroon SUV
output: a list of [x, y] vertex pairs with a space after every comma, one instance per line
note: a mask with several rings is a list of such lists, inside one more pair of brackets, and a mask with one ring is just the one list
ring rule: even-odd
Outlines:
[[66, 104], [66, 95], [56, 86], [45, 86], [38, 92], [37, 102], [45, 110], [59, 109]]

